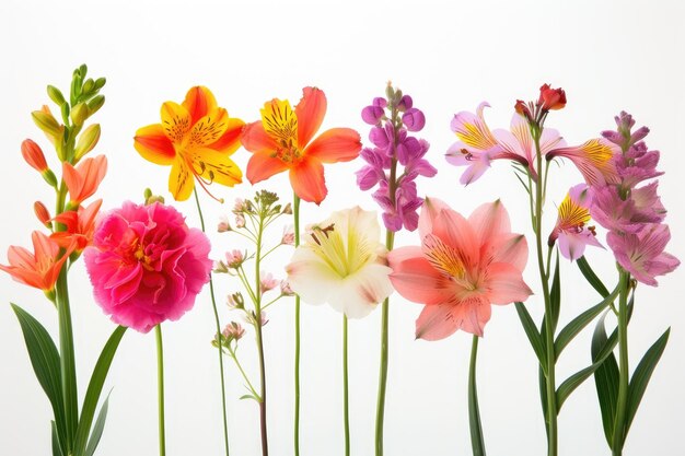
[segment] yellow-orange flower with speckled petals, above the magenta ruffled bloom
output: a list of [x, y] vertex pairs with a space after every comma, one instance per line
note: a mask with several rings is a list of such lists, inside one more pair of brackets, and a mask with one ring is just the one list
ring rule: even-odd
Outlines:
[[209, 89], [195, 86], [182, 104], [164, 103], [161, 115], [162, 124], [136, 131], [133, 145], [143, 159], [172, 166], [169, 191], [176, 201], [190, 197], [193, 176], [210, 196], [207, 185], [211, 183], [233, 187], [242, 182], [240, 168], [229, 156], [241, 145], [245, 122], [218, 107]]

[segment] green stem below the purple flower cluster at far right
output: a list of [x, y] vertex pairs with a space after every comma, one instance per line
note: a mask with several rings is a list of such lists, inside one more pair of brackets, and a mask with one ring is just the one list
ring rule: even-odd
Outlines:
[[628, 292], [630, 274], [620, 271], [618, 295], [618, 398], [614, 421], [612, 455], [620, 456], [625, 443], [626, 408], [628, 404]]

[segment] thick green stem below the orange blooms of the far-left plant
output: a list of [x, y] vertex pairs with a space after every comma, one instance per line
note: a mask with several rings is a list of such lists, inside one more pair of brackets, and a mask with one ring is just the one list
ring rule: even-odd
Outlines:
[[57, 317], [59, 323], [59, 361], [61, 372], [61, 387], [65, 394], [66, 447], [69, 454], [73, 451], [73, 443], [79, 424], [79, 396], [77, 388], [77, 367], [73, 350], [73, 329], [71, 327], [71, 309], [69, 305], [69, 288], [67, 283], [67, 268], [59, 272], [56, 284]]

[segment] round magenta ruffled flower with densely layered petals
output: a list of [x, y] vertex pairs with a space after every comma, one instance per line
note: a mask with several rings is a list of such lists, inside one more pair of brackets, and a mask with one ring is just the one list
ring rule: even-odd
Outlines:
[[177, 320], [209, 281], [209, 239], [171, 206], [127, 201], [101, 219], [84, 259], [95, 301], [116, 324], [148, 332]]

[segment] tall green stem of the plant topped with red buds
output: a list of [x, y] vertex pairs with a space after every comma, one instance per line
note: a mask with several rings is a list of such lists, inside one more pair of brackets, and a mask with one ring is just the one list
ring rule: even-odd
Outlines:
[[557, 355], [554, 348], [554, 318], [552, 315], [552, 300], [549, 296], [548, 273], [545, 271], [545, 260], [543, 258], [543, 180], [542, 175], [542, 154], [539, 149], [539, 136], [542, 131], [535, 131], [533, 138], [535, 140], [535, 150], [537, 155], [537, 169], [541, 173], [535, 183], [535, 247], [537, 250], [537, 267], [539, 279], [543, 284], [543, 297], [545, 301], [545, 347], [547, 349], [547, 375], [545, 377], [545, 386], [547, 390], [547, 455], [557, 455], [557, 391], [555, 379], [555, 367]]

